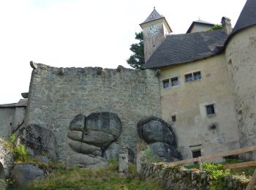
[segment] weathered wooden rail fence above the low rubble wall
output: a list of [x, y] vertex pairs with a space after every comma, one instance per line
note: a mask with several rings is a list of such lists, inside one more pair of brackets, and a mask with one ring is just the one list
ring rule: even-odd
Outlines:
[[[199, 163], [200, 171], [203, 171], [203, 161], [206, 161], [209, 159], [217, 159], [217, 158], [223, 157], [223, 156], [232, 156], [232, 155], [236, 155], [239, 153], [252, 152], [252, 151], [256, 151], [256, 145], [245, 147], [245, 148], [239, 148], [239, 149], [236, 149], [233, 151], [214, 153], [214, 154], [210, 154], [210, 155], [206, 155], [206, 156], [199, 156], [199, 157], [193, 158], [193, 159], [174, 161], [171, 164], [189, 164], [189, 163], [197, 161]], [[245, 162], [241, 162], [238, 164], [227, 164], [223, 168], [224, 169], [233, 169], [233, 168], [251, 167], [251, 166], [256, 166], [256, 161], [245, 161]], [[246, 190], [254, 189], [255, 183], [256, 183], [256, 170], [253, 173], [252, 179], [250, 180], [248, 186], [246, 187]]]

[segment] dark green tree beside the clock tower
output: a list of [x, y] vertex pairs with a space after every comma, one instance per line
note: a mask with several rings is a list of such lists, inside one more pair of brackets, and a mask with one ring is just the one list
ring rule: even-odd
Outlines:
[[135, 32], [135, 39], [138, 39], [140, 42], [132, 44], [129, 48], [129, 50], [131, 50], [133, 54], [127, 59], [127, 64], [129, 64], [133, 68], [140, 69], [141, 66], [145, 64], [143, 32]]

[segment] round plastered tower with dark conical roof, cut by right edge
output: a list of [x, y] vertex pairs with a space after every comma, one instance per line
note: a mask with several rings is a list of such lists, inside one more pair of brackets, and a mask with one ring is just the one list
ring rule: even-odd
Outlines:
[[241, 131], [241, 147], [256, 145], [255, 9], [256, 0], [247, 0], [225, 47], [238, 127]]

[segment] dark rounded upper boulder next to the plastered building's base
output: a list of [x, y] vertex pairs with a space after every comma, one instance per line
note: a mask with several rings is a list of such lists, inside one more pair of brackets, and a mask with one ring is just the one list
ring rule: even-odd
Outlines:
[[173, 147], [177, 147], [176, 136], [171, 126], [156, 117], [149, 117], [138, 123], [138, 133], [140, 138], [148, 144], [152, 142], [165, 142]]

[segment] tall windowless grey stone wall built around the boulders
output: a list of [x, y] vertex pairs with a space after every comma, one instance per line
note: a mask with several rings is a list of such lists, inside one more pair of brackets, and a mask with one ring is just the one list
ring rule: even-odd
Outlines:
[[141, 118], [159, 117], [158, 79], [150, 70], [55, 68], [37, 64], [31, 76], [26, 124], [39, 124], [56, 134], [59, 160], [72, 155], [67, 144], [69, 123], [75, 115], [116, 113], [121, 119], [119, 147], [135, 151], [136, 125]]

